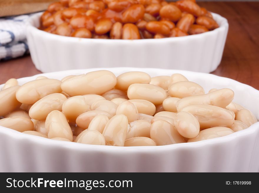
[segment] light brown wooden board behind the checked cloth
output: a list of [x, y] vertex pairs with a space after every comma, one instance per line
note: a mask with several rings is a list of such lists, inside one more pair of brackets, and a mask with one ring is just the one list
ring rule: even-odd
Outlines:
[[43, 11], [55, 1], [59, 0], [0, 0], [0, 17]]

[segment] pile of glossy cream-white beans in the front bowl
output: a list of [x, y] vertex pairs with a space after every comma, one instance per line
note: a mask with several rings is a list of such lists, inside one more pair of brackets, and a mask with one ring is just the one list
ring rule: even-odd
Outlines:
[[0, 91], [0, 125], [52, 140], [153, 146], [196, 142], [248, 128], [257, 119], [231, 89], [205, 94], [181, 74], [151, 78], [106, 70], [62, 80], [39, 76]]

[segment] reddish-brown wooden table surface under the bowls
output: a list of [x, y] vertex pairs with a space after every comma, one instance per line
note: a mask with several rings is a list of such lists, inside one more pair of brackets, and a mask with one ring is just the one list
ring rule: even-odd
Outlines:
[[[228, 19], [229, 32], [220, 66], [212, 74], [259, 90], [259, 2], [199, 2]], [[41, 73], [30, 56], [0, 62], [0, 84], [9, 78]]]

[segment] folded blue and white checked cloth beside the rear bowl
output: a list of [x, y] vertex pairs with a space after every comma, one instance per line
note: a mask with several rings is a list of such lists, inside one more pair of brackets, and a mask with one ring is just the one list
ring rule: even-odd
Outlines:
[[9, 60], [29, 53], [25, 26], [33, 15], [0, 18], [0, 60]]

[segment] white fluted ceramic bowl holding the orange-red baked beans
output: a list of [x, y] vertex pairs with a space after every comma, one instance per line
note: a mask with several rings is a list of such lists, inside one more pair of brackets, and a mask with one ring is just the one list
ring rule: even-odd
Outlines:
[[219, 28], [192, 36], [111, 40], [59, 36], [37, 29], [36, 14], [26, 28], [31, 58], [42, 72], [99, 67], [166, 68], [209, 73], [220, 64], [228, 21], [212, 14]]

